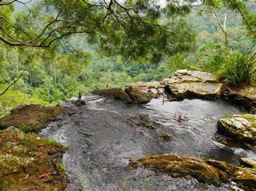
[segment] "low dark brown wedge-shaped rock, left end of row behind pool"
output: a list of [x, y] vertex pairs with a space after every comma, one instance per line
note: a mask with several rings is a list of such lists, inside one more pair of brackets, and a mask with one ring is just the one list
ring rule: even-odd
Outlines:
[[92, 94], [98, 94], [105, 97], [114, 98], [116, 100], [124, 101], [125, 103], [132, 103], [133, 101], [129, 95], [121, 88], [110, 88], [110, 89], [100, 89], [92, 91]]

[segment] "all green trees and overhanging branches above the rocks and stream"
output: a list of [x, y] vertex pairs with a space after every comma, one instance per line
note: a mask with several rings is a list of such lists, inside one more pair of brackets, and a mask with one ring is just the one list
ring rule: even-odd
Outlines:
[[[21, 103], [55, 105], [78, 91], [162, 80], [183, 68], [250, 83], [254, 10], [255, 3], [234, 0], [2, 0], [0, 115]], [[233, 74], [241, 61], [246, 72]], [[8, 94], [28, 98], [12, 102]]]

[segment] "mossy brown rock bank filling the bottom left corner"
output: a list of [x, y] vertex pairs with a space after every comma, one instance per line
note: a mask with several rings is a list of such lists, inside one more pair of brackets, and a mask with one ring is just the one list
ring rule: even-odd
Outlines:
[[68, 178], [60, 159], [64, 148], [15, 127], [0, 131], [1, 190], [63, 190]]

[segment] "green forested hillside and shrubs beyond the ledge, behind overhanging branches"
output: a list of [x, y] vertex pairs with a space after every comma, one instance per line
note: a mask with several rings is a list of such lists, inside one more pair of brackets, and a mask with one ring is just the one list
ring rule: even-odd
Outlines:
[[[22, 11], [19, 11], [21, 5], [17, 8], [12, 13], [8, 12], [9, 17], [22, 14]], [[247, 8], [253, 12], [256, 6], [247, 3]], [[22, 74], [21, 79], [0, 96], [0, 116], [22, 103], [55, 105], [77, 96], [79, 91], [86, 95], [95, 89], [124, 87], [130, 82], [162, 80], [175, 70], [183, 68], [215, 73], [220, 79], [232, 85], [254, 81], [255, 62], [253, 59], [250, 60], [250, 55], [255, 51], [256, 41], [251, 37], [252, 33], [242, 22], [241, 16], [235, 10], [232, 12], [230, 9], [221, 9], [216, 10], [219, 14], [217, 16], [220, 17], [218, 20], [213, 12], [203, 9], [205, 8], [193, 9], [186, 18], [176, 20], [172, 25], [173, 29], [178, 31], [177, 27], [183, 25], [180, 27], [179, 35], [175, 38], [168, 37], [173, 43], [172, 48], [157, 47], [160, 52], [158, 54], [154, 54], [153, 49], [145, 48], [146, 52], [139, 52], [142, 47], [126, 47], [127, 42], [120, 39], [117, 41], [117, 38], [126, 38], [123, 34], [111, 39], [112, 43], [115, 41], [117, 44], [117, 52], [112, 48], [107, 49], [106, 39], [96, 44], [95, 36], [88, 38], [88, 33], [70, 36], [59, 43], [53, 43], [53, 46], [47, 49], [34, 48], [32, 45], [14, 48], [0, 43], [0, 94]], [[3, 10], [0, 10], [0, 13], [1, 11], [3, 13]], [[183, 11], [187, 13], [186, 8]], [[6, 15], [6, 12], [4, 14]], [[229, 15], [225, 24], [225, 18], [221, 15]], [[160, 16], [154, 19], [157, 18]], [[40, 18], [39, 22], [43, 22], [42, 19]], [[146, 19], [154, 22], [152, 18]], [[250, 19], [255, 19], [255, 14]], [[160, 23], [166, 23], [166, 20], [170, 22], [167, 17], [161, 17]], [[110, 38], [109, 34], [117, 27], [114, 23], [109, 24], [107, 38]], [[138, 27], [141, 27], [140, 24]], [[221, 28], [223, 24], [225, 31]], [[252, 27], [255, 27], [254, 25]], [[153, 37], [139, 39], [145, 29], [130, 30], [134, 33], [133, 40], [142, 46], [151, 46], [151, 43], [156, 44], [159, 40], [156, 38], [156, 41], [152, 41]], [[158, 31], [155, 32], [153, 35], [158, 35]], [[17, 31], [15, 34], [17, 38], [25, 40]], [[145, 40], [145, 44], [141, 40]], [[34, 43], [38, 44], [38, 41], [39, 39]], [[164, 48], [166, 55], [161, 53]], [[123, 51], [124, 54], [119, 51]], [[131, 60], [131, 56], [136, 60]]]

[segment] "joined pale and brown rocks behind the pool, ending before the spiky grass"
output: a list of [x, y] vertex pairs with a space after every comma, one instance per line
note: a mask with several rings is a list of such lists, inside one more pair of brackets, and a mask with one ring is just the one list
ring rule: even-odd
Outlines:
[[152, 98], [158, 98], [161, 95], [164, 95], [166, 100], [177, 100], [190, 96], [217, 98], [220, 96], [221, 87], [222, 83], [219, 83], [210, 73], [177, 70], [173, 76], [161, 82], [129, 83], [125, 90], [112, 88], [96, 90], [92, 93], [126, 103], [147, 103]]

